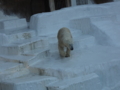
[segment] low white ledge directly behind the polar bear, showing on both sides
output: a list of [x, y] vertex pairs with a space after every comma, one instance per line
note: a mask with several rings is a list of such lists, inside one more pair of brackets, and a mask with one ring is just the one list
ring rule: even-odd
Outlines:
[[[53, 38], [52, 40], [49, 42], [50, 53], [58, 52], [58, 41], [56, 40], [56, 38]], [[74, 50], [90, 48], [95, 46], [96, 44], [97, 43], [95, 37], [90, 35], [81, 35], [73, 37]]]

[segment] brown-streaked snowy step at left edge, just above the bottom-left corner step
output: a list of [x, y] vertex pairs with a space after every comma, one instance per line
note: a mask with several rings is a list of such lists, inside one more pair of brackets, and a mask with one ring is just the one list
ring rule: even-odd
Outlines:
[[28, 74], [27, 70], [21, 63], [8, 62], [8, 61], [1, 60], [0, 61], [0, 81], [8, 78], [13, 78], [13, 77]]

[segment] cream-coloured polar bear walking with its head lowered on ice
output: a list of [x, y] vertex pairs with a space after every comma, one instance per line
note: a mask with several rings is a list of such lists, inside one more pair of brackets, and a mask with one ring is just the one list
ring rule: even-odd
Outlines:
[[[63, 27], [58, 31], [58, 49], [61, 57], [70, 57], [70, 51], [73, 50], [73, 38], [68, 28]], [[66, 48], [66, 51], [64, 49]]]

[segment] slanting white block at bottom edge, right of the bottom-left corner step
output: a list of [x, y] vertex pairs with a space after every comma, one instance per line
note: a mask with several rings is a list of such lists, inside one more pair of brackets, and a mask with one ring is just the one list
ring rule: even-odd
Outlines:
[[101, 90], [102, 85], [99, 76], [92, 73], [76, 78], [51, 83], [47, 90]]

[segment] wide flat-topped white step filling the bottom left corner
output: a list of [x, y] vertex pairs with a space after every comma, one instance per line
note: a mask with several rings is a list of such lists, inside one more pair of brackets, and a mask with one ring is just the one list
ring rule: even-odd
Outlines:
[[25, 76], [0, 82], [1, 90], [47, 90], [46, 85], [57, 81], [48, 76]]

